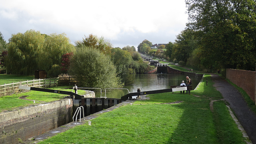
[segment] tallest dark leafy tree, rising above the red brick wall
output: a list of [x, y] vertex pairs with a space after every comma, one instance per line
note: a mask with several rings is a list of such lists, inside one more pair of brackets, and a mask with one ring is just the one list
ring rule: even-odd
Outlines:
[[[186, 0], [202, 64], [212, 69], [255, 69], [254, 0]], [[209, 62], [210, 61], [210, 62]]]

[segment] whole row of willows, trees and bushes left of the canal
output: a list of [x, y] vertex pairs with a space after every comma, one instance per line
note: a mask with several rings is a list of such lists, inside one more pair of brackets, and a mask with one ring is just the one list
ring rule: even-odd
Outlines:
[[73, 45], [66, 34], [28, 30], [12, 34], [6, 43], [0, 33], [0, 50], [0, 70], [8, 74], [34, 75], [34, 70], [45, 70], [48, 77], [69, 74], [88, 88], [131, 84], [130, 74], [142, 74], [149, 67], [134, 46], [113, 48], [104, 37], [92, 34]]

